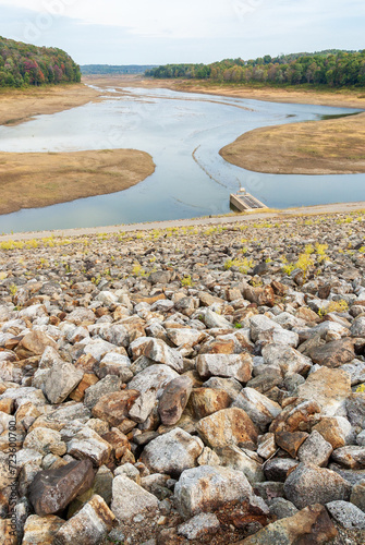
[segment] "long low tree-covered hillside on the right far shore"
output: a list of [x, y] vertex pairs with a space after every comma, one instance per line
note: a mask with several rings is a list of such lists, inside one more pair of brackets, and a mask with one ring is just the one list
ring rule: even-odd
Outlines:
[[365, 49], [292, 53], [255, 60], [224, 59], [211, 64], [167, 64], [146, 71], [151, 77], [184, 77], [214, 82], [365, 86]]

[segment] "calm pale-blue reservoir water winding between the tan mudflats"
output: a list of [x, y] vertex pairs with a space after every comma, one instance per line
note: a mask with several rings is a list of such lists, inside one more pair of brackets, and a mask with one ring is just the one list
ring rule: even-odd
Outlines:
[[119, 193], [0, 216], [0, 232], [97, 227], [194, 218], [230, 210], [240, 186], [269, 207], [365, 199], [365, 174], [261, 174], [218, 154], [246, 131], [356, 112], [348, 108], [275, 104], [168, 89], [117, 88], [97, 104], [17, 126], [0, 128], [1, 152], [148, 152], [156, 171]]

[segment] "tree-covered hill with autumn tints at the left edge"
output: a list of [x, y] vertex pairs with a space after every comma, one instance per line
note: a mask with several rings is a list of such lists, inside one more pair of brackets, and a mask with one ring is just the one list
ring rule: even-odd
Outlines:
[[0, 87], [80, 82], [80, 66], [58, 48], [37, 47], [0, 36]]

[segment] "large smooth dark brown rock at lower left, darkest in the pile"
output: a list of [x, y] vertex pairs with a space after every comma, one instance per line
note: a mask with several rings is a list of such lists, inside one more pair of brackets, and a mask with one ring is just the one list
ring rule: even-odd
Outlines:
[[29, 486], [29, 500], [40, 517], [64, 509], [93, 484], [95, 473], [89, 460], [70, 462], [54, 470], [40, 471]]

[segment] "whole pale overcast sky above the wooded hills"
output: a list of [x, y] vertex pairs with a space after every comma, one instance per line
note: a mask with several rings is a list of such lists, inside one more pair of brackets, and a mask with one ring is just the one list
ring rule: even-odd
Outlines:
[[365, 0], [0, 0], [0, 35], [80, 64], [364, 49]]

